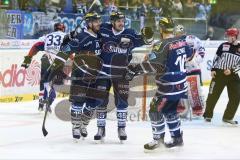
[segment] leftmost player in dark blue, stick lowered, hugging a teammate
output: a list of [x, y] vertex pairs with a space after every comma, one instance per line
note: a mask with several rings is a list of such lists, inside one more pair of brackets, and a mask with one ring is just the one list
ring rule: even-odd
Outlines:
[[[56, 74], [61, 72], [66, 59], [75, 53], [70, 86], [71, 122], [72, 135], [74, 139], [87, 136], [88, 125], [96, 107], [95, 79], [101, 70], [101, 60], [97, 58], [100, 54], [100, 40], [98, 31], [101, 25], [101, 17], [97, 13], [88, 13], [84, 17], [87, 28], [77, 34], [70, 42], [64, 42], [62, 51], [57, 54], [56, 61], [52, 65], [48, 80], [52, 80]], [[88, 77], [89, 79], [84, 79]], [[79, 78], [79, 79], [77, 79]]]

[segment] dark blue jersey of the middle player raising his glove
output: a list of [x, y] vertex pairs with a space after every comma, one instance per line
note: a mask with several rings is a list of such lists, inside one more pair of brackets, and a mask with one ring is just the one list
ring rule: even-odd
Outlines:
[[[132, 59], [131, 51], [135, 47], [145, 44], [143, 37], [134, 30], [123, 29], [123, 31], [116, 33], [109, 23], [101, 25], [100, 35], [102, 43], [100, 57], [104, 62], [103, 71], [108, 74], [115, 75], [113, 68], [126, 67]], [[122, 57], [125, 57], [126, 60]]]

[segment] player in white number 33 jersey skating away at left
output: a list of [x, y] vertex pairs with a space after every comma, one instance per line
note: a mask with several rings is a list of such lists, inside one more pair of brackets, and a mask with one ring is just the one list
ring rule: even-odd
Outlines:
[[[44, 74], [46, 73], [48, 67], [53, 62], [55, 55], [59, 52], [60, 46], [63, 42], [63, 38], [66, 35], [65, 26], [63, 23], [54, 24], [54, 32], [49, 33], [43, 37], [40, 37], [38, 42], [36, 42], [30, 49], [27, 56], [24, 57], [24, 62], [22, 67], [28, 68], [31, 64], [32, 57], [36, 55], [39, 51], [45, 51], [41, 58], [41, 80], [40, 80], [40, 92], [39, 92], [39, 107], [38, 110], [43, 110], [43, 100], [44, 98]], [[46, 92], [45, 92], [46, 93]], [[45, 95], [46, 96], [46, 95]]]

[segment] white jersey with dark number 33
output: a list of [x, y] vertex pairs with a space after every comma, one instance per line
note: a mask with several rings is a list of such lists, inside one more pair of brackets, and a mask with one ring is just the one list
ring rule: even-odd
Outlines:
[[49, 60], [54, 60], [55, 55], [60, 50], [65, 35], [66, 33], [62, 31], [56, 31], [39, 38], [39, 41], [44, 43], [44, 51], [49, 56]]

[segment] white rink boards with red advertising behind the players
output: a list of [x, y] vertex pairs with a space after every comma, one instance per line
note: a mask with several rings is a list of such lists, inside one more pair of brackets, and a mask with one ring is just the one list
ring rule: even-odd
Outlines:
[[[26, 70], [21, 67], [23, 57], [36, 40], [0, 40], [0, 102], [20, 102], [38, 99], [40, 57], [38, 53]], [[202, 63], [204, 84], [208, 84], [212, 59], [220, 41], [206, 41], [206, 56]], [[136, 48], [133, 61], [139, 61], [150, 50], [149, 46]], [[62, 95], [60, 95], [62, 96]]]

